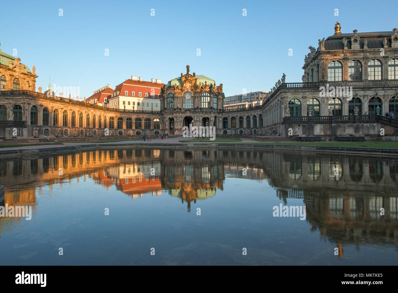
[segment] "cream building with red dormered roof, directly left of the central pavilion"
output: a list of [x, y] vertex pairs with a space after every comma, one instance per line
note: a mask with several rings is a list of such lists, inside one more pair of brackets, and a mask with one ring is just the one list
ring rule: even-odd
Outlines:
[[161, 79], [143, 81], [132, 75], [123, 81], [109, 95], [108, 107], [126, 110], [160, 111], [160, 88], [164, 84]]

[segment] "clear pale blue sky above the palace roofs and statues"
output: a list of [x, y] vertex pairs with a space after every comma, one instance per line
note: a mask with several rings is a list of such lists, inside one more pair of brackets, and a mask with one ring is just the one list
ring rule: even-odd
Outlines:
[[131, 75], [165, 83], [189, 64], [190, 73], [222, 83], [230, 96], [243, 88], [268, 91], [283, 73], [286, 82], [301, 82], [308, 46], [333, 35], [337, 20], [343, 33], [391, 31], [398, 21], [385, 9], [395, 6], [380, 2], [376, 11], [366, 0], [6, 1], [0, 42], [2, 51], [17, 49], [21, 63], [35, 65], [36, 90], [45, 90], [51, 75], [52, 85], [80, 87], [80, 97], [88, 97]]

